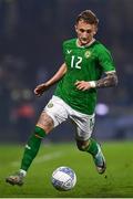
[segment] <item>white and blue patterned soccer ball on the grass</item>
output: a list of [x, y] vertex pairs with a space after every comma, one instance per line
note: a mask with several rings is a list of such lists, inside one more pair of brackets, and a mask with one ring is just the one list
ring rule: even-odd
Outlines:
[[76, 184], [74, 170], [69, 167], [59, 167], [52, 174], [52, 185], [60, 191], [71, 190]]

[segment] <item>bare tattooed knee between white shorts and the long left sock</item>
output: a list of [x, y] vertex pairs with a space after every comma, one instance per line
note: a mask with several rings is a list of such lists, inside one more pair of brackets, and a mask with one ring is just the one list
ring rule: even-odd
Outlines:
[[37, 123], [37, 126], [43, 128], [44, 132], [49, 134], [54, 127], [53, 119], [45, 112], [42, 112]]

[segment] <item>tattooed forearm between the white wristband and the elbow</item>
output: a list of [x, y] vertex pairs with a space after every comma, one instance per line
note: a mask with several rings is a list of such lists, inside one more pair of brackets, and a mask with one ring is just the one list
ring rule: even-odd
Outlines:
[[96, 81], [96, 87], [111, 87], [117, 85], [116, 73], [109, 73], [105, 77]]

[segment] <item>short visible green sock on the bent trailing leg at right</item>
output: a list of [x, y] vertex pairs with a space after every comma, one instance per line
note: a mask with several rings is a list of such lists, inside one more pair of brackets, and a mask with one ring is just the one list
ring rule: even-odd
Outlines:
[[85, 148], [85, 151], [90, 153], [92, 156], [95, 156], [98, 154], [98, 143], [90, 138], [89, 139], [90, 143], [89, 143], [89, 146]]

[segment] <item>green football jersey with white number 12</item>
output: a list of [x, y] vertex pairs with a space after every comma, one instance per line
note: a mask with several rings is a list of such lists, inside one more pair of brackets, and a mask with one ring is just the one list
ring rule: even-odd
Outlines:
[[76, 81], [98, 81], [103, 72], [115, 71], [112, 56], [100, 42], [79, 46], [76, 39], [63, 43], [63, 54], [68, 71], [58, 83], [54, 95], [73, 109], [91, 115], [96, 104], [96, 90], [79, 91], [74, 84]]

